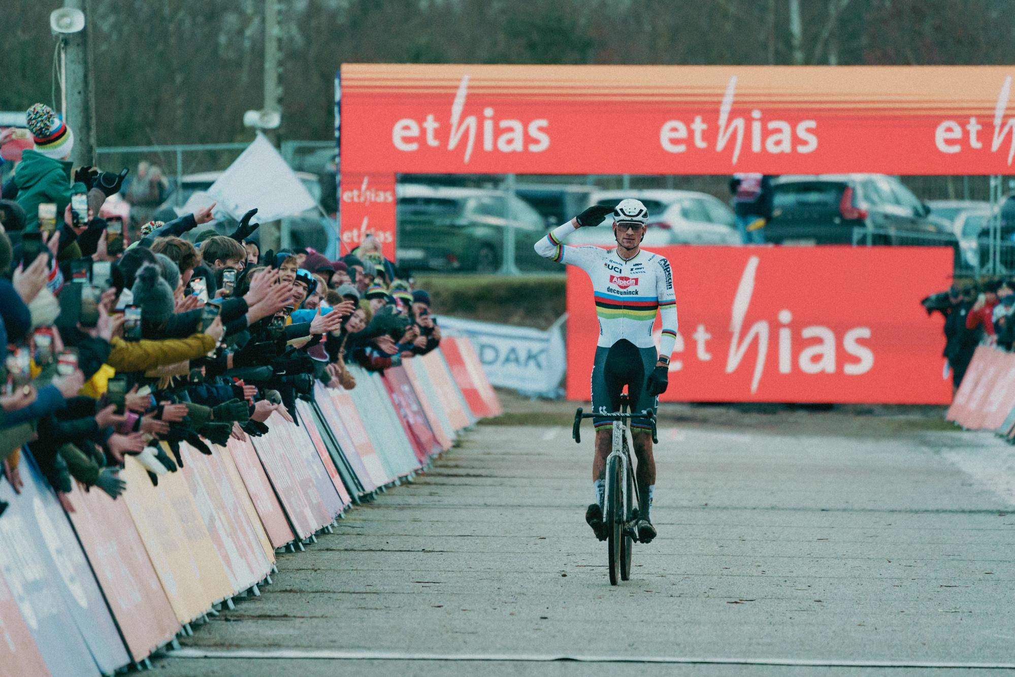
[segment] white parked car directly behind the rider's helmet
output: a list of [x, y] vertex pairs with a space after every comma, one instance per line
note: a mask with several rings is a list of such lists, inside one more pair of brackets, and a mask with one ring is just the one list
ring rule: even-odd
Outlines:
[[[696, 191], [618, 190], [598, 191], [589, 205], [615, 206], [624, 198], [640, 200], [649, 209], [646, 247], [664, 245], [740, 245], [733, 211], [718, 198]], [[577, 213], [577, 212], [576, 212]], [[567, 239], [572, 245], [612, 245], [612, 217], [599, 227], [582, 228]]]

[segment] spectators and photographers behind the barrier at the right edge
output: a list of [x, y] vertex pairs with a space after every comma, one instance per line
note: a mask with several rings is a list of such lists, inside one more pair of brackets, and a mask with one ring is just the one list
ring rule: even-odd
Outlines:
[[947, 291], [923, 300], [928, 313], [945, 316], [944, 356], [957, 389], [976, 346], [986, 343], [1004, 350], [1015, 344], [1015, 280], [953, 284]]

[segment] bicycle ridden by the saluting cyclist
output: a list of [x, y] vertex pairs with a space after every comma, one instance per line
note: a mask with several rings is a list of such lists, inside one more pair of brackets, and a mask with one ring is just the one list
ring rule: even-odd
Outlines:
[[[618, 581], [630, 580], [631, 551], [634, 547], [634, 523], [637, 520], [637, 510], [633, 507], [634, 496], [641, 504], [634, 482], [633, 464], [630, 450], [634, 446], [631, 441], [631, 412], [627, 407], [627, 394], [620, 395], [620, 411], [612, 414], [586, 414], [582, 407], [574, 412], [574, 425], [571, 436], [578, 444], [582, 443], [581, 425], [583, 418], [607, 418], [613, 423], [613, 446], [610, 455], [606, 457], [606, 491], [603, 496], [603, 522], [607, 530], [607, 556], [610, 562], [610, 585], [618, 585]], [[639, 418], [648, 418], [652, 422], [652, 439], [656, 437], [656, 415], [654, 412], [638, 414]]]

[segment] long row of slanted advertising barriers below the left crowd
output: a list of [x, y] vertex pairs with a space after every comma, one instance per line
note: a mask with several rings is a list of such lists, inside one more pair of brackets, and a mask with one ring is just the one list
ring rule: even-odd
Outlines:
[[157, 485], [127, 457], [117, 500], [76, 484], [58, 496], [22, 450], [20, 493], [0, 484], [0, 677], [150, 667], [219, 605], [260, 595], [277, 551], [302, 550], [501, 411], [467, 338], [351, 371], [354, 389], [317, 384], [263, 436], [208, 443], [210, 456], [182, 444], [183, 467]]

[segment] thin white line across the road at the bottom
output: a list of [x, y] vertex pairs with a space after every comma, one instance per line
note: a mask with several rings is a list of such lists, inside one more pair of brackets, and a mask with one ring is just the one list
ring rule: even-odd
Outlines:
[[936, 661], [848, 661], [838, 659], [766, 659], [766, 658], [697, 658], [684, 656], [566, 656], [559, 654], [413, 654], [411, 652], [373, 652], [279, 649], [257, 651], [249, 649], [178, 649], [166, 658], [179, 659], [287, 659], [323, 661], [484, 661], [491, 663], [664, 663], [685, 665], [781, 665], [815, 668], [927, 668], [938, 670], [1015, 670], [1015, 663], [936, 662]]

